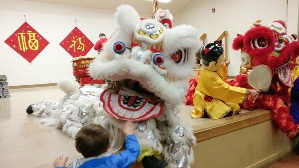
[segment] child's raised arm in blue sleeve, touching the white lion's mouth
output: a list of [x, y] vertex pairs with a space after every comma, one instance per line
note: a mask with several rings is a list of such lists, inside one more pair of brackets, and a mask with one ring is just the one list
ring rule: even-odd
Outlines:
[[126, 136], [126, 150], [120, 153], [119, 168], [129, 168], [138, 158], [140, 153], [139, 143], [133, 134], [133, 122], [127, 121], [122, 129]]

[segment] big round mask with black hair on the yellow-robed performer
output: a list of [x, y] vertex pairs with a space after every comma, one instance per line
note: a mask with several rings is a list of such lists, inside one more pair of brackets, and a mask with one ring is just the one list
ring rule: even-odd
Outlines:
[[210, 71], [218, 71], [225, 61], [221, 41], [205, 44], [200, 55], [201, 65]]

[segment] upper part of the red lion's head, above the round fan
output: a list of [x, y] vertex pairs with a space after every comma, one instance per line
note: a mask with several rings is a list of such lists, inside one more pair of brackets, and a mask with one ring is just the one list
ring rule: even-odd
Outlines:
[[293, 60], [299, 55], [299, 42], [295, 41], [297, 35], [286, 35], [285, 26], [284, 21], [276, 20], [269, 26], [256, 25], [245, 35], [238, 34], [233, 49], [241, 49], [243, 55], [248, 56], [247, 61], [242, 60], [242, 65], [251, 69], [265, 64], [273, 73], [288, 62], [293, 67]]

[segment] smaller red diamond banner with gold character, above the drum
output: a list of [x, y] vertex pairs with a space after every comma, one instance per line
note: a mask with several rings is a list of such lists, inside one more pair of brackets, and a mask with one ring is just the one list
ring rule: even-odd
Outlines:
[[75, 27], [60, 43], [72, 57], [85, 56], [94, 44]]

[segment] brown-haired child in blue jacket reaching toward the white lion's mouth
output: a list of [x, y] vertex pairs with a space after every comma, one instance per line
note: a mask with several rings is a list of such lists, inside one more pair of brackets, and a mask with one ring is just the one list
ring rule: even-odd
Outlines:
[[[109, 149], [109, 133], [100, 125], [82, 127], [76, 135], [76, 150], [84, 158], [77, 159], [66, 168], [129, 168], [137, 159], [140, 147], [133, 135], [133, 122], [127, 121], [122, 129], [126, 136], [126, 150], [119, 155], [106, 154]], [[54, 168], [65, 168], [67, 157], [58, 157]]]

